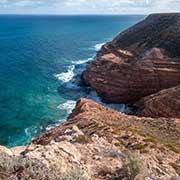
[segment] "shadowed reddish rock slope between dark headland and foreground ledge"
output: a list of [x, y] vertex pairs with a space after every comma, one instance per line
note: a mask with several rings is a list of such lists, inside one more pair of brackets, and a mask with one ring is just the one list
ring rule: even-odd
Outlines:
[[142, 98], [134, 107], [139, 116], [180, 118], [180, 86]]

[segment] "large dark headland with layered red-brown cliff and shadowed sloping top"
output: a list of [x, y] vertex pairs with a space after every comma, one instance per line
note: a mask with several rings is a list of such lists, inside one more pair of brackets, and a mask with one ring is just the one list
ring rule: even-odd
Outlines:
[[154, 14], [105, 44], [83, 79], [107, 102], [129, 103], [180, 84], [180, 14]]

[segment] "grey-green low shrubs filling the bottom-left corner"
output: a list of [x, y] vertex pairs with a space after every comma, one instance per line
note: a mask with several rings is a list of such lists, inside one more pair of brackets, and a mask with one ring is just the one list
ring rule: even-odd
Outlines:
[[0, 154], [1, 180], [60, 180], [55, 171], [38, 160]]

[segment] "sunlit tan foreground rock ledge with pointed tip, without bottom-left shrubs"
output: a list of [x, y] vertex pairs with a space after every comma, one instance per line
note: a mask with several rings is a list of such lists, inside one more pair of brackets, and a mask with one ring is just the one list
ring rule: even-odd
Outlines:
[[[55, 170], [53, 180], [173, 180], [180, 174], [179, 139], [179, 119], [127, 116], [80, 99], [64, 124], [27, 147], [1, 151], [40, 161]], [[28, 177], [27, 167], [7, 173], [1, 161], [0, 179]]]

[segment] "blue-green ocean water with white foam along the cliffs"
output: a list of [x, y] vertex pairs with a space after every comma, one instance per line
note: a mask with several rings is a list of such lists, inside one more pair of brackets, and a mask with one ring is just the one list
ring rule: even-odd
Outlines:
[[0, 16], [0, 144], [23, 145], [64, 121], [101, 43], [144, 16]]

